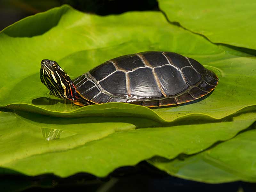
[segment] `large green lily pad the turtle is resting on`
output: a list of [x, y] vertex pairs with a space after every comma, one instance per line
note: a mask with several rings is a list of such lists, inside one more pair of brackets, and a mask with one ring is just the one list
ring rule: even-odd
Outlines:
[[[255, 84], [250, 83], [256, 80], [255, 57], [171, 25], [161, 12], [100, 17], [62, 6], [6, 28], [0, 41], [2, 107], [68, 117], [140, 116], [164, 123], [191, 114], [220, 119], [256, 104]], [[150, 50], [192, 57], [215, 71], [220, 83], [200, 102], [151, 110], [124, 103], [80, 108], [48, 99], [48, 90], [40, 82], [39, 63], [45, 58], [56, 60], [76, 77], [105, 60]]]

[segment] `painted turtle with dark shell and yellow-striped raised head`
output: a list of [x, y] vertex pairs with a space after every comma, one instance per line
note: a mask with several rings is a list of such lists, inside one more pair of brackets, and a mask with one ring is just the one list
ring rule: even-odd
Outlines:
[[45, 59], [40, 79], [52, 95], [79, 106], [123, 102], [149, 108], [196, 100], [219, 81], [198, 61], [159, 51], [108, 60], [73, 80], [56, 61]]

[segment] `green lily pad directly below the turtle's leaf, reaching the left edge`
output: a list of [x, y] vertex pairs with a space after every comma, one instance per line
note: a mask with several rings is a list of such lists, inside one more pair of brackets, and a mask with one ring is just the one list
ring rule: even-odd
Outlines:
[[170, 159], [200, 152], [234, 137], [256, 115], [218, 123], [181, 120], [184, 125], [166, 127], [141, 118], [60, 118], [22, 111], [16, 116], [1, 112], [0, 118], [1, 167], [27, 175], [88, 172], [102, 177], [152, 156]]

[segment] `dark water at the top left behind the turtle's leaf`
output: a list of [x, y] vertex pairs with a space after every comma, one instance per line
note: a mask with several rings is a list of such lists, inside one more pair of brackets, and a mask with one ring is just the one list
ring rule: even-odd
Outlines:
[[159, 10], [156, 0], [0, 0], [0, 30], [24, 17], [63, 4], [69, 4], [79, 11], [98, 15]]

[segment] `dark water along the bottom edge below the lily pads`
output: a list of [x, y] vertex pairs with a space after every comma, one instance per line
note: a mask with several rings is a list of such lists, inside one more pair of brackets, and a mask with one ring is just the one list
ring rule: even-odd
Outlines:
[[23, 175], [0, 176], [1, 191], [96, 191], [96, 192], [255, 192], [256, 184], [232, 182], [206, 184], [172, 177], [146, 162], [134, 167], [122, 167], [105, 178], [78, 173], [68, 178], [51, 174], [36, 177]]

